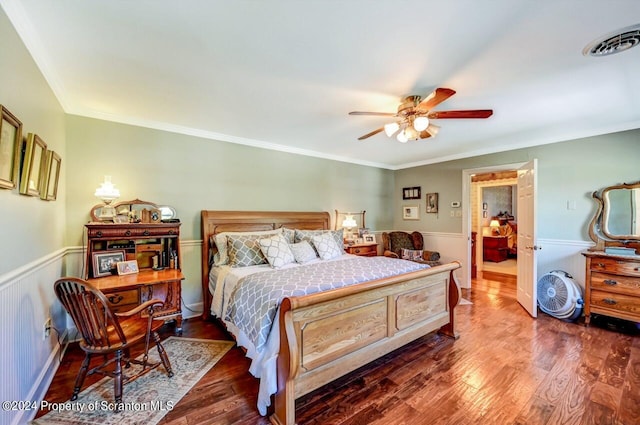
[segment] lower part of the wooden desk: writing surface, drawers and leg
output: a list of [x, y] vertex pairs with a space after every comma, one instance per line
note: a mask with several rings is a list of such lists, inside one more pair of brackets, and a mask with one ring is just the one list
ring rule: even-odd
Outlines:
[[[106, 276], [88, 281], [102, 291], [112, 311], [127, 311], [154, 298], [164, 301], [159, 318], [175, 318], [176, 333], [182, 332], [181, 288], [184, 275], [178, 269], [141, 270], [123, 276]], [[144, 313], [143, 313], [144, 314]]]

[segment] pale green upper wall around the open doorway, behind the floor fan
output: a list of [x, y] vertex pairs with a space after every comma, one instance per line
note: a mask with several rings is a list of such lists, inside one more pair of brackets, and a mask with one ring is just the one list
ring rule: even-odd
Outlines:
[[[640, 130], [588, 137], [456, 161], [398, 170], [395, 173], [393, 227], [426, 232], [462, 232], [462, 218], [451, 217], [451, 202], [462, 199], [463, 170], [517, 164], [538, 159], [538, 237], [589, 241], [588, 224], [596, 204], [591, 193], [606, 186], [640, 180]], [[402, 220], [402, 188], [421, 186], [420, 220]], [[439, 214], [425, 213], [425, 194], [439, 194]], [[575, 210], [567, 202], [575, 202]]]

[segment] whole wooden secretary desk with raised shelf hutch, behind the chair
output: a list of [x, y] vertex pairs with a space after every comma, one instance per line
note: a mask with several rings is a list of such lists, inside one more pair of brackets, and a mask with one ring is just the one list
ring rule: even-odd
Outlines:
[[[159, 316], [174, 318], [182, 330], [180, 302], [180, 223], [89, 223], [85, 278], [100, 289], [116, 311], [158, 298], [165, 302]], [[107, 275], [94, 257], [124, 252], [124, 260], [137, 260], [140, 271]], [[157, 268], [154, 266], [157, 263]], [[98, 266], [98, 267], [96, 267]]]

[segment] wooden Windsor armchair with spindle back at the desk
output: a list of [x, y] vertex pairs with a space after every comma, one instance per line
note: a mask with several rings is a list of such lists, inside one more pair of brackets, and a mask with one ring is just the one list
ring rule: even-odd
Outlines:
[[[100, 373], [114, 379], [115, 402], [122, 403], [122, 387], [147, 372], [162, 365], [166, 369], [169, 377], [173, 376], [171, 363], [160, 343], [158, 328], [163, 325], [160, 320], [154, 320], [154, 306], [163, 304], [161, 300], [153, 299], [136, 308], [122, 312], [113, 313], [109, 308], [107, 298], [102, 292], [94, 288], [89, 282], [82, 279], [65, 277], [59, 279], [54, 284], [56, 296], [67, 310], [76, 328], [82, 334], [80, 348], [85, 352], [85, 358], [78, 371], [73, 395], [71, 400], [78, 398], [78, 393], [87, 374]], [[146, 310], [147, 317], [142, 314]], [[142, 314], [141, 314], [142, 313]], [[149, 343], [150, 338], [158, 349], [160, 362], [149, 363]], [[134, 344], [144, 342], [144, 354], [142, 360], [130, 358], [130, 347]], [[89, 362], [94, 354], [103, 356], [103, 363], [89, 369]], [[110, 359], [109, 356], [113, 355]], [[142, 366], [142, 369], [131, 376], [125, 376], [122, 371], [122, 361], [128, 369], [131, 363]], [[113, 367], [107, 368], [108, 365]]]

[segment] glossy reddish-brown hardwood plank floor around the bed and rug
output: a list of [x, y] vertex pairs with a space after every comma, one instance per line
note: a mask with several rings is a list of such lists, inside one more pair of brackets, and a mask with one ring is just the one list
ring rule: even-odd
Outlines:
[[[480, 278], [463, 296], [472, 304], [456, 309], [458, 340], [428, 335], [302, 397], [298, 423], [640, 424], [638, 325], [532, 319], [512, 281]], [[217, 323], [183, 326], [184, 336], [230, 339]], [[81, 360], [77, 347], [67, 351], [47, 400], [69, 398]], [[233, 348], [161, 424], [269, 423], [248, 366]]]

